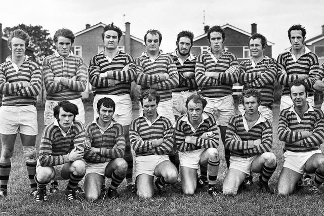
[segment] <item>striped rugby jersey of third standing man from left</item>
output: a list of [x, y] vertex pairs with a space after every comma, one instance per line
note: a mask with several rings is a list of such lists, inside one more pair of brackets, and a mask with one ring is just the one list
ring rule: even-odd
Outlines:
[[[131, 82], [135, 76], [136, 67], [134, 58], [118, 51], [117, 55], [110, 59], [105, 55], [105, 50], [92, 57], [89, 66], [89, 82], [96, 88], [94, 94], [101, 95], [124, 95], [131, 94]], [[125, 66], [129, 66], [127, 70]], [[113, 77], [100, 77], [100, 73], [113, 71]], [[120, 81], [114, 84], [114, 80]]]

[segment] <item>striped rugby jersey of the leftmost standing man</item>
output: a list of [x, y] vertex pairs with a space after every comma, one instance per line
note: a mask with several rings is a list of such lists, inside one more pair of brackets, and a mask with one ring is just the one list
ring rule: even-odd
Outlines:
[[[4, 106], [26, 106], [35, 105], [36, 98], [41, 91], [42, 72], [39, 66], [28, 60], [25, 56], [24, 62], [18, 66], [11, 61], [9, 56], [0, 65], [0, 94], [3, 95]], [[23, 82], [28, 82], [24, 87]]]

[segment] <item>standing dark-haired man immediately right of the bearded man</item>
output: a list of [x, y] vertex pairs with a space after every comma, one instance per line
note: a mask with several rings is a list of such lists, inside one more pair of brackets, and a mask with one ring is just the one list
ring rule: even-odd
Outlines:
[[[233, 101], [233, 83], [238, 81], [239, 69], [236, 56], [223, 50], [225, 31], [213, 26], [207, 33], [210, 48], [198, 55], [195, 67], [195, 79], [201, 88], [201, 96], [207, 100], [206, 112], [216, 117], [223, 144], [228, 121], [235, 114]], [[225, 150], [227, 168], [230, 151]]]

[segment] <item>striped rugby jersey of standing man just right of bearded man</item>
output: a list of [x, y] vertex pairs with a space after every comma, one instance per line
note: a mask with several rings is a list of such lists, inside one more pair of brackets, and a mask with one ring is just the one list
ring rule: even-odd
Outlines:
[[[217, 60], [211, 49], [206, 53], [198, 55], [195, 68], [195, 79], [199, 87], [200, 94], [208, 98], [221, 98], [233, 94], [233, 83], [238, 81], [239, 70], [233, 73], [225, 73], [231, 66], [238, 66], [238, 61], [234, 54], [223, 51]], [[205, 75], [205, 72], [220, 73], [216, 80]]]

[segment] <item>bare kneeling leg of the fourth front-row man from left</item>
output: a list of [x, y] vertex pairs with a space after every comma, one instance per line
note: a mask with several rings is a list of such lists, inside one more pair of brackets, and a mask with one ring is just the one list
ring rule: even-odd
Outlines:
[[183, 193], [187, 195], [193, 195], [197, 188], [197, 169], [181, 166], [180, 170]]

